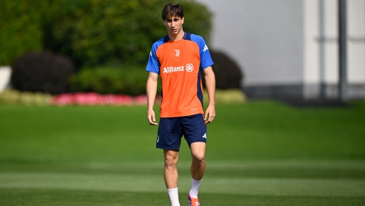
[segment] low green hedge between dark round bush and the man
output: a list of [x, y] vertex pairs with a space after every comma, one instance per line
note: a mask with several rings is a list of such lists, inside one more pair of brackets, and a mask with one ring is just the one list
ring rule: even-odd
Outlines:
[[142, 67], [84, 68], [71, 77], [71, 90], [101, 94], [142, 95], [146, 94], [148, 75]]

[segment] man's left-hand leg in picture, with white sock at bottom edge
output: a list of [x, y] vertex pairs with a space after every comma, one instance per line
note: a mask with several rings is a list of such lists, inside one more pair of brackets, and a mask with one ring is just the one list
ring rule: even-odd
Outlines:
[[164, 177], [171, 206], [180, 206], [178, 200], [178, 151], [164, 149]]

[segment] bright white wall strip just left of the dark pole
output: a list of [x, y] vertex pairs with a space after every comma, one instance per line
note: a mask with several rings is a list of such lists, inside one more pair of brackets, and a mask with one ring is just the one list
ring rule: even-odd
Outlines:
[[303, 0], [303, 96], [335, 97], [338, 82], [337, 1]]

